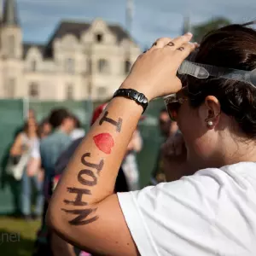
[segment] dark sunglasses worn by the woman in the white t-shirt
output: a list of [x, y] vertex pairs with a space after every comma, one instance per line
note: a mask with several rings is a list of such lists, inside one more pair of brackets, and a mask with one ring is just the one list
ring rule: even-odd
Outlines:
[[188, 88], [186, 86], [183, 87], [183, 89], [179, 90], [177, 93], [164, 97], [164, 102], [166, 104], [167, 111], [172, 121], [177, 121], [177, 113], [179, 108], [184, 102], [188, 100], [187, 94]]

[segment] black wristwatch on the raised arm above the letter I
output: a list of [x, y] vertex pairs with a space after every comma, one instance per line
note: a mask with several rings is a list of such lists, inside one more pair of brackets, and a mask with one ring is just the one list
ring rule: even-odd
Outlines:
[[133, 89], [119, 89], [116, 90], [116, 92], [113, 94], [113, 98], [117, 96], [123, 96], [125, 98], [129, 98], [135, 102], [137, 102], [138, 105], [141, 105], [143, 107], [143, 113], [145, 112], [146, 108], [148, 107], [148, 99], [146, 96], [143, 95], [143, 93], [138, 92], [137, 90]]

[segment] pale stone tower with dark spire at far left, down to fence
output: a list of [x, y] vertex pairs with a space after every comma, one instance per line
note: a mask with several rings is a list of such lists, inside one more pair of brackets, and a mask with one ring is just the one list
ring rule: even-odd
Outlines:
[[16, 0], [3, 1], [3, 15], [0, 26], [0, 95], [7, 98], [22, 97], [24, 91], [23, 44]]

